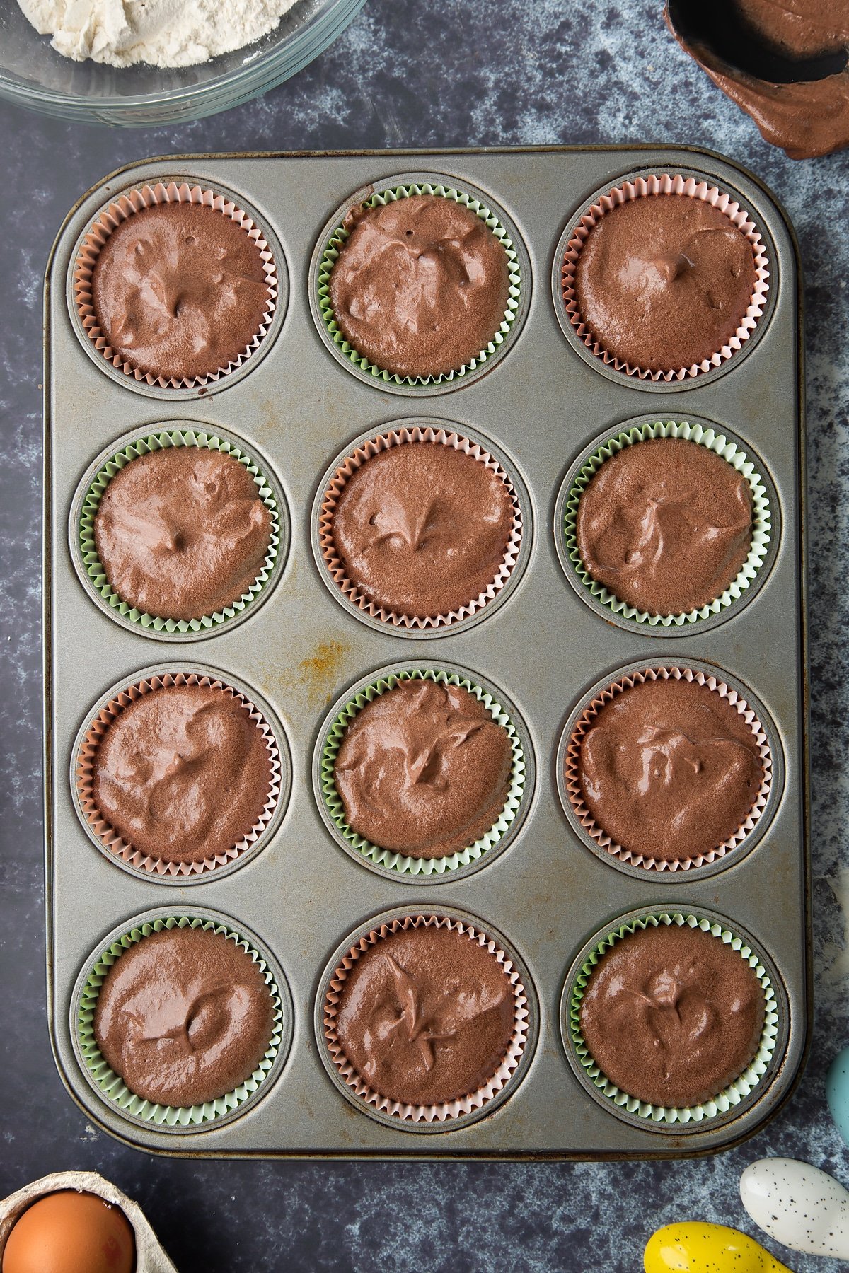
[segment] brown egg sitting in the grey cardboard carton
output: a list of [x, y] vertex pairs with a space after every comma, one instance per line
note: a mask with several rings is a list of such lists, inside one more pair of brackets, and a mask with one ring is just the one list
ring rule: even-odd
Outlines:
[[3, 1253], [3, 1273], [132, 1273], [136, 1244], [118, 1207], [65, 1189], [28, 1207]]

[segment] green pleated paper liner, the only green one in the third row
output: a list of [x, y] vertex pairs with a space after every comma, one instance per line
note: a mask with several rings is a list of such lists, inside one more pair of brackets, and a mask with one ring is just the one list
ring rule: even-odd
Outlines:
[[[364, 836], [358, 835], [358, 833], [354, 831], [345, 821], [345, 806], [342, 805], [341, 797], [336, 789], [336, 779], [333, 775], [333, 766], [336, 764], [339, 749], [342, 745], [347, 726], [351, 723], [358, 712], [364, 708], [367, 703], [372, 703], [379, 694], [383, 694], [386, 690], [395, 689], [395, 686], [401, 681], [416, 680], [434, 681], [438, 685], [458, 685], [461, 689], [474, 694], [479, 703], [484, 704], [493, 721], [507, 731], [510, 740], [510, 747], [513, 750], [510, 787], [498, 821], [490, 827], [486, 835], [475, 840], [474, 844], [444, 858], [405, 857], [405, 854], [396, 853], [392, 849], [382, 849], [379, 845], [372, 844], [370, 840], [367, 840]], [[498, 703], [491, 694], [481, 689], [480, 685], [475, 685], [474, 681], [470, 681], [456, 672], [439, 671], [430, 667], [416, 667], [403, 672], [391, 672], [387, 676], [365, 685], [353, 699], [349, 699], [341, 712], [336, 714], [330, 729], [327, 731], [319, 766], [319, 783], [325, 806], [345, 843], [354, 848], [360, 857], [367, 858], [377, 866], [384, 867], [387, 871], [395, 871], [398, 875], [415, 876], [433, 876], [443, 875], [447, 871], [456, 871], [458, 867], [468, 866], [470, 862], [476, 862], [489, 849], [494, 848], [507, 834], [513, 820], [516, 819], [516, 815], [518, 813], [524, 794], [524, 780], [526, 761], [522, 742], [516, 726], [502, 704]]]

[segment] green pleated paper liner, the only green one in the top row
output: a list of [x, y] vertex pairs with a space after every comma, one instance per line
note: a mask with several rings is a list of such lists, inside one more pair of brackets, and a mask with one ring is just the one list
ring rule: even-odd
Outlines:
[[409, 199], [410, 195], [439, 195], [443, 199], [453, 199], [454, 202], [462, 204], [465, 207], [471, 209], [476, 216], [480, 216], [482, 222], [490, 228], [493, 234], [503, 244], [507, 252], [508, 264], [508, 300], [507, 308], [504, 311], [504, 317], [499, 330], [495, 332], [490, 342], [485, 349], [481, 349], [477, 358], [472, 358], [471, 362], [466, 363], [457, 370], [440, 373], [439, 376], [398, 376], [395, 372], [383, 370], [381, 367], [375, 367], [374, 363], [369, 362], [363, 354], [360, 354], [353, 345], [347, 342], [342, 332], [336, 325], [333, 316], [333, 307], [330, 299], [330, 276], [341, 251], [341, 246], [346, 238], [350, 237], [350, 230], [345, 228], [344, 224], [339, 224], [332, 232], [325, 251], [321, 257], [318, 266], [318, 311], [321, 313], [322, 321], [330, 332], [330, 336], [336, 345], [336, 348], [342, 353], [353, 364], [358, 367], [361, 372], [367, 372], [375, 379], [382, 379], [392, 382], [395, 384], [443, 384], [449, 381], [458, 379], [466, 376], [467, 372], [474, 372], [475, 368], [480, 367], [486, 362], [493, 354], [500, 349], [504, 340], [510, 332], [519, 308], [519, 295], [522, 290], [522, 274], [519, 267], [519, 258], [513, 246], [507, 229], [502, 225], [500, 220], [485, 204], [475, 199], [472, 195], [466, 193], [462, 190], [457, 190], [453, 186], [433, 186], [430, 182], [423, 182], [416, 185], [411, 182], [409, 186], [395, 186], [389, 190], [379, 191], [372, 195], [370, 199], [363, 201], [363, 207], [378, 207], [386, 204], [395, 202], [398, 199]]

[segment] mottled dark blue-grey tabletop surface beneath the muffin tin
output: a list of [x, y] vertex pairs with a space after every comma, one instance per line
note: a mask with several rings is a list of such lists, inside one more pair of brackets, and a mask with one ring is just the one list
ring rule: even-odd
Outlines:
[[[111, 134], [0, 106], [0, 1195], [51, 1170], [95, 1167], [139, 1199], [182, 1273], [633, 1273], [658, 1225], [700, 1217], [754, 1232], [737, 1181], [755, 1157], [804, 1158], [849, 1183], [849, 1151], [824, 1092], [829, 1062], [849, 1043], [840, 906], [843, 896], [849, 911], [849, 154], [792, 163], [770, 149], [671, 41], [661, 8], [661, 0], [369, 0], [293, 81], [213, 120]], [[747, 164], [784, 202], [802, 244], [817, 1009], [802, 1087], [741, 1150], [687, 1162], [227, 1164], [122, 1147], [88, 1127], [62, 1090], [43, 1008], [41, 279], [65, 211], [108, 169], [158, 153], [638, 140], [704, 145]], [[783, 1258], [797, 1273], [838, 1269], [815, 1256]]]

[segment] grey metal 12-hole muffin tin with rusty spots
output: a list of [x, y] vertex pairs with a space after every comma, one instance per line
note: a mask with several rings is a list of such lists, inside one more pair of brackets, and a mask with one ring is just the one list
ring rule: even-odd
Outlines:
[[[575, 335], [561, 279], [594, 201], [667, 173], [740, 202], [761, 236], [769, 288], [731, 356], [652, 381], [626, 376]], [[92, 225], [145, 188], [160, 191], [145, 197], [220, 196], [230, 215], [257, 227], [274, 258], [267, 331], [232, 372], [197, 386], [127, 374], [90, 339], [76, 306], [74, 270]], [[460, 195], [510, 243], [509, 320], [486, 358], [426, 383], [351, 358], [326, 313], [345, 211], [411, 190]], [[89, 1118], [169, 1153], [652, 1157], [734, 1143], [787, 1097], [811, 1011], [798, 304], [792, 232], [774, 201], [734, 164], [682, 149], [190, 155], [126, 168], [69, 214], [46, 284], [47, 967], [57, 1066]], [[670, 624], [593, 592], [566, 542], [570, 493], [587, 462], [610, 439], [653, 426], [653, 437], [695, 429], [727, 458], [737, 454], [755, 474], [762, 514], [742, 588]], [[370, 439], [405, 430], [480, 448], [509, 479], [518, 509], [503, 587], [448, 622], [387, 621], [340, 588], [322, 547], [322, 507], [339, 466]], [[276, 509], [276, 555], [244, 606], [196, 624], [155, 622], [111, 596], [90, 514], [109, 472], [134, 454], [197, 443], [258, 475]], [[759, 816], [699, 867], [653, 869], [612, 854], [570, 799], [574, 723], [596, 693], [647, 670], [719, 685], [762, 727], [770, 764]], [[409, 676], [471, 685], [513, 727], [509, 819], [471, 857], [439, 869], [372, 853], [326, 798], [340, 713]], [[85, 806], [80, 773], [98, 713], [162, 677], [220, 680], [276, 743], [277, 805], [251, 843], [199, 871], [157, 869], [122, 853]], [[490, 1100], [456, 1118], [416, 1122], [367, 1105], [327, 1046], [333, 970], [363, 934], [405, 915], [484, 934], [518, 988], [512, 1069]], [[87, 1062], [104, 952], [108, 965], [122, 941], [172, 922], [242, 937], [279, 992], [267, 1073], [197, 1118], [116, 1100]], [[575, 1043], [574, 1003], [597, 947], [644, 922], [734, 941], [768, 993], [751, 1072], [698, 1116], [606, 1091], [582, 1059], [579, 1031]]]

